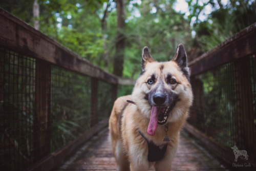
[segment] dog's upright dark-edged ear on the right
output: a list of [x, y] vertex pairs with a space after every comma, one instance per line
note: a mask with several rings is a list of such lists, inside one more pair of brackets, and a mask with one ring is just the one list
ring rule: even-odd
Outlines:
[[176, 49], [176, 53], [172, 60], [178, 64], [182, 73], [189, 80], [190, 73], [189, 73], [189, 68], [187, 67], [187, 54], [186, 54], [185, 48], [182, 44], [178, 45], [178, 47]]

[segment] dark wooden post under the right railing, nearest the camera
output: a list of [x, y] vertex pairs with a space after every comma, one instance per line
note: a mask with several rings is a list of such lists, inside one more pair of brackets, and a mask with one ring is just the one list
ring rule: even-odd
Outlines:
[[[253, 147], [253, 102], [249, 57], [239, 58], [234, 61], [236, 80], [236, 131], [237, 143], [240, 148]], [[247, 151], [253, 151], [247, 149]], [[249, 155], [250, 156], [250, 155]]]

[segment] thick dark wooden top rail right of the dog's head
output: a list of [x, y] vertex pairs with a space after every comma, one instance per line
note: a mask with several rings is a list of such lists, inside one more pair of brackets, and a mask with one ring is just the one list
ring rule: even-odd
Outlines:
[[256, 53], [256, 23], [224, 41], [217, 48], [189, 62], [191, 76]]

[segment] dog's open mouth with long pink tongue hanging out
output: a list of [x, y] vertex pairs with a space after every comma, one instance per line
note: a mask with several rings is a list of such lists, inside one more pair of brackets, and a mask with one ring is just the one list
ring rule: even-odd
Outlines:
[[151, 136], [155, 135], [157, 125], [163, 125], [167, 122], [169, 117], [170, 107], [157, 107], [152, 106], [151, 115], [150, 115], [150, 123], [147, 127], [147, 133]]

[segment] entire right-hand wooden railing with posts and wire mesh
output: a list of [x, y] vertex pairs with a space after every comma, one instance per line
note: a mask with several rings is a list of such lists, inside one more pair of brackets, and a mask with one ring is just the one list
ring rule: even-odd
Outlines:
[[[255, 38], [256, 23], [189, 62], [195, 98], [187, 128], [230, 166], [256, 164]], [[234, 145], [248, 160], [234, 161]]]

